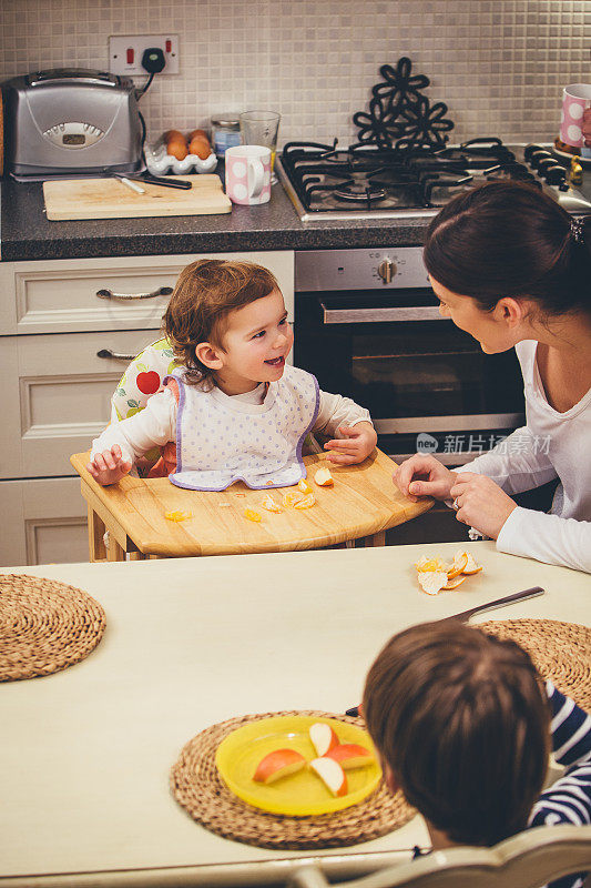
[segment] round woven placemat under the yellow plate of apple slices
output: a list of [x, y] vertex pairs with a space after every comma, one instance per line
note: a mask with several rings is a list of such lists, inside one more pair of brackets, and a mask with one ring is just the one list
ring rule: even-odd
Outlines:
[[183, 747], [171, 771], [172, 793], [194, 820], [226, 839], [261, 848], [297, 850], [368, 841], [391, 833], [414, 817], [416, 811], [403, 795], [397, 793], [393, 796], [383, 781], [358, 805], [314, 817], [268, 814], [237, 798], [217, 773], [215, 753], [218, 745], [243, 725], [287, 715], [338, 718], [350, 725], [363, 725], [360, 718], [306, 709], [245, 715], [206, 728]]

